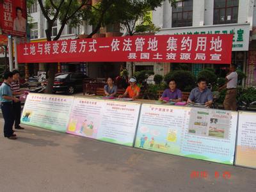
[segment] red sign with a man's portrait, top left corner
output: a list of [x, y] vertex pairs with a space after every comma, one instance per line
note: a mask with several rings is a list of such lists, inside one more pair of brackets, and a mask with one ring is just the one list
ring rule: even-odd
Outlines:
[[26, 0], [0, 2], [0, 28], [6, 35], [26, 36]]

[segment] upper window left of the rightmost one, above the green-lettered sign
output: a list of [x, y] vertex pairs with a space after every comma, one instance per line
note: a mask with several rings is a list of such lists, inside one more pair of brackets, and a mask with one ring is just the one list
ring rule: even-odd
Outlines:
[[172, 7], [172, 27], [192, 26], [193, 0], [178, 1]]

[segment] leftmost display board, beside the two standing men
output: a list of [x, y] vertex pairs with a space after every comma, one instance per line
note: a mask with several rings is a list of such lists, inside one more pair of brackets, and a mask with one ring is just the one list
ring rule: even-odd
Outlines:
[[20, 122], [66, 132], [74, 97], [29, 93]]

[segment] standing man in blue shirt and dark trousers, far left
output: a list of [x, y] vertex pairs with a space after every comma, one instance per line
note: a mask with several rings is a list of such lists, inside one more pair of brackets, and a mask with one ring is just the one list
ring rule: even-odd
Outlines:
[[19, 102], [19, 99], [12, 97], [12, 90], [10, 84], [12, 83], [12, 72], [4, 72], [4, 82], [0, 88], [0, 100], [1, 100], [1, 109], [4, 118], [4, 137], [10, 140], [16, 140], [16, 135], [13, 134], [13, 106], [12, 102]]

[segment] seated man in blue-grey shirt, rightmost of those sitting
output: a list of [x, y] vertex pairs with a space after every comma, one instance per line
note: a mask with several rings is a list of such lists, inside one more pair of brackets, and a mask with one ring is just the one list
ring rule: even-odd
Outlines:
[[212, 104], [212, 92], [206, 86], [206, 80], [199, 78], [197, 81], [198, 87], [194, 88], [189, 95], [188, 103], [205, 104], [209, 107]]

